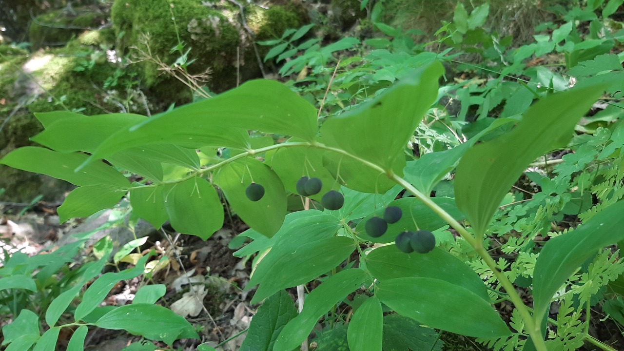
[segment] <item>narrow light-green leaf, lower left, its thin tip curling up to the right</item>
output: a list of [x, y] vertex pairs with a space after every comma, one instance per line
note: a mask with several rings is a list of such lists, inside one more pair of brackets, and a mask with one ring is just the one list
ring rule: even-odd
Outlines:
[[145, 262], [147, 262], [149, 257], [150, 255], [141, 257], [137, 266], [132, 269], [125, 269], [121, 272], [108, 272], [95, 280], [95, 282], [90, 285], [89, 289], [85, 291], [82, 296], [82, 301], [78, 307], [76, 307], [76, 311], [74, 312], [76, 321], [90, 314], [95, 307], [98, 307], [115, 284], [125, 279], [138, 277], [142, 274], [145, 269]]

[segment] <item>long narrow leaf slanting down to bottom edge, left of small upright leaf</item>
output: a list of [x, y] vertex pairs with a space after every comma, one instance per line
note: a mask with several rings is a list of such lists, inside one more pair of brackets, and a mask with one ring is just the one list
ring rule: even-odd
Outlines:
[[301, 345], [318, 319], [333, 305], [339, 304], [347, 295], [361, 287], [368, 278], [364, 270], [355, 268], [338, 272], [321, 283], [306, 298], [301, 314], [281, 330], [273, 350], [291, 351]]

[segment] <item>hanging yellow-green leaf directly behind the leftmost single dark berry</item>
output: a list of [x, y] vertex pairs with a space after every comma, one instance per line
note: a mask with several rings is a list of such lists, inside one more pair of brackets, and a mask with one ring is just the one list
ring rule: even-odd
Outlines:
[[[255, 202], [245, 194], [252, 179], [265, 188], [262, 199]], [[221, 167], [215, 184], [245, 224], [268, 237], [280, 229], [286, 216], [286, 192], [280, 178], [268, 166], [253, 157], [245, 157]]]

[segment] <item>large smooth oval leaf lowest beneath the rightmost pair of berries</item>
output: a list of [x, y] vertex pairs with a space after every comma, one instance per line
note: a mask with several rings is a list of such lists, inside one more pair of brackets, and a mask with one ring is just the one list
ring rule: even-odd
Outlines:
[[471, 337], [510, 335], [498, 312], [474, 292], [432, 278], [397, 278], [380, 282], [379, 300], [397, 314], [429, 327]]

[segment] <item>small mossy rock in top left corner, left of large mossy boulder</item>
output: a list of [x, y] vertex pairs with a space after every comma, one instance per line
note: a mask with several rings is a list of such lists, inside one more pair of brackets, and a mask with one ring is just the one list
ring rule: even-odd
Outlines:
[[65, 7], [37, 16], [28, 29], [28, 38], [35, 49], [59, 46], [81, 32], [99, 27], [106, 17], [98, 7]]

